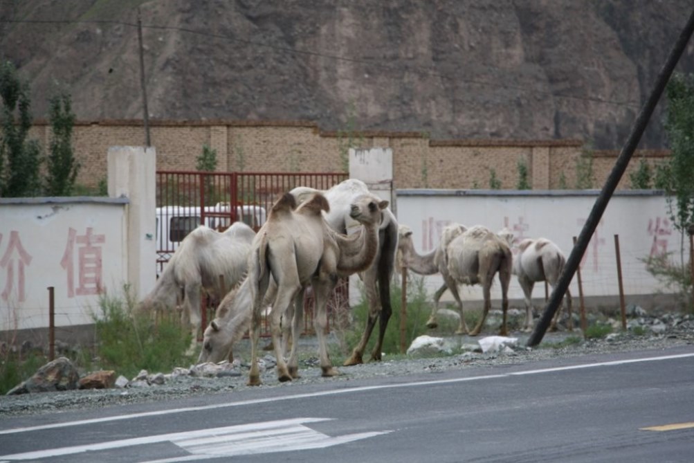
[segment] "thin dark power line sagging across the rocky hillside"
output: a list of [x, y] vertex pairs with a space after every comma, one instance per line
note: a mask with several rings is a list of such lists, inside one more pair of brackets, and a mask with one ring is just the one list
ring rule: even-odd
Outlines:
[[[9, 19], [9, 20], [0, 20], [0, 22], [7, 22], [7, 23], [17, 23], [17, 24], [116, 24], [119, 26], [128, 26], [128, 27], [133, 27], [137, 28], [136, 23], [130, 23], [130, 22], [124, 22], [124, 21], [115, 21], [115, 20], [99, 20], [99, 19], [90, 19], [88, 21], [83, 21], [83, 20], [67, 20], [67, 19], [21, 19], [21, 20], [14, 20], [14, 19]], [[336, 60], [336, 61], [343, 61], [343, 62], [352, 62], [355, 64], [359, 65], [366, 65], [372, 68], [379, 68], [379, 69], [385, 69], [387, 71], [402, 71], [402, 67], [395, 67], [394, 65], [388, 65], [384, 64], [382, 62], [375, 62], [371, 60], [364, 60], [364, 59], [359, 59], [359, 58], [350, 58], [346, 56], [339, 56], [339, 55], [332, 55], [328, 53], [321, 53], [318, 51], [310, 51], [310, 50], [300, 50], [300, 49], [294, 49], [291, 47], [280, 47], [278, 45], [272, 45], [272, 44], [266, 44], [263, 42], [256, 42], [254, 40], [248, 40], [248, 39], [243, 39], [240, 37], [234, 37], [232, 35], [226, 35], [226, 34], [219, 34], [219, 33], [210, 33], [209, 31], [198, 31], [195, 29], [190, 29], [190, 28], [184, 28], [184, 27], [178, 27], [178, 26], [160, 26], [157, 24], [142, 24], [142, 28], [144, 29], [152, 29], [152, 30], [161, 30], [161, 31], [176, 31], [176, 32], [181, 32], [181, 33], [187, 33], [187, 34], [192, 34], [192, 35], [200, 35], [201, 37], [209, 37], [209, 38], [214, 38], [214, 39], [219, 39], [219, 40], [228, 40], [230, 42], [238, 42], [246, 45], [251, 45], [253, 47], [263, 47], [263, 48], [268, 48], [276, 51], [283, 51], [286, 53], [292, 53], [296, 55], [303, 55], [303, 56], [312, 56], [316, 58], [326, 58], [330, 60]], [[497, 67], [489, 67], [490, 69], [499, 69]], [[507, 85], [503, 83], [494, 83], [490, 81], [483, 81], [480, 79], [473, 79], [473, 78], [463, 78], [463, 77], [451, 77], [447, 76], [446, 74], [441, 74], [440, 72], [434, 71], [432, 69], [427, 69], [425, 67], [419, 67], [419, 66], [410, 66], [410, 65], [405, 65], [406, 72], [412, 72], [414, 74], [420, 74], [423, 76], [432, 76], [432, 77], [437, 77], [441, 78], [446, 81], [451, 81], [451, 82], [463, 82], [463, 83], [468, 83], [468, 84], [473, 84], [473, 85], [483, 85], [486, 87], [498, 87], [498, 88], [503, 88], [506, 90], [516, 90], [519, 92], [526, 92], [526, 93], [532, 93], [532, 94], [537, 94], [537, 95], [544, 95], [544, 96], [552, 96], [553, 98], [556, 99], [570, 99], [570, 100], [577, 100], [577, 101], [589, 101], [591, 103], [602, 103], [602, 104], [607, 104], [607, 105], [613, 105], [613, 106], [625, 106], [629, 108], [640, 108], [641, 103], [638, 103], [638, 101], [615, 101], [615, 100], [610, 100], [610, 99], [604, 99], [600, 97], [591, 97], [591, 96], [575, 96], [575, 95], [567, 95], [567, 94], [557, 94], [557, 93], [552, 93], [552, 92], [544, 92], [542, 90], [536, 90], [532, 88], [527, 88], [527, 87], [521, 87], [520, 85]]]

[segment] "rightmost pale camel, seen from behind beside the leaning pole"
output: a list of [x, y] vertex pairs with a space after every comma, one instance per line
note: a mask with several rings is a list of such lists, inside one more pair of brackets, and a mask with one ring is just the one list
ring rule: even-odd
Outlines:
[[[532, 288], [539, 281], [546, 281], [552, 289], [557, 285], [559, 275], [564, 271], [566, 258], [559, 246], [546, 238], [523, 239], [518, 243], [518, 254], [514, 258], [513, 273], [518, 277], [518, 283], [523, 289], [525, 298], [525, 327], [530, 331], [533, 328]], [[573, 330], [571, 292], [566, 288], [566, 295], [562, 306], [566, 304], [568, 312], [568, 329]], [[557, 310], [552, 319], [551, 330], [557, 330], [557, 320], [561, 308]]]

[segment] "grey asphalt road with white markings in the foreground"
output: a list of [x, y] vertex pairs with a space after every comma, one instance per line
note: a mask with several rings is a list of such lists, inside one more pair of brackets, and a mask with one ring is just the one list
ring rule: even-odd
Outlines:
[[0, 462], [691, 462], [694, 346], [0, 418]]

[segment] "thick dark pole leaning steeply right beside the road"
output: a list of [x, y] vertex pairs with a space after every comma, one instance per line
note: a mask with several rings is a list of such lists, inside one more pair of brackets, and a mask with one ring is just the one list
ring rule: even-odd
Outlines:
[[589, 214], [581, 233], [578, 235], [576, 246], [573, 247], [568, 260], [566, 261], [564, 272], [562, 272], [561, 276], [559, 276], [559, 281], [557, 281], [557, 285], [552, 291], [552, 296], [550, 296], [550, 301], [545, 307], [545, 312], [543, 312], [542, 317], [540, 317], [534, 331], [527, 340], [527, 346], [534, 347], [537, 344], [540, 344], [545, 332], [547, 332], [547, 328], [550, 326], [552, 317], [555, 316], [557, 308], [559, 308], [562, 296], [564, 296], [566, 288], [568, 288], [568, 283], [570, 282], [571, 278], [573, 278], [573, 274], [579, 265], [581, 257], [586, 251], [593, 233], [595, 233], [595, 228], [598, 227], [598, 222], [600, 222], [600, 218], [602, 218], [602, 213], [607, 208], [609, 199], [616, 189], [619, 180], [624, 175], [627, 165], [629, 165], [629, 160], [631, 160], [634, 150], [636, 150], [636, 146], [638, 146], [638, 142], [641, 140], [641, 135], [643, 135], [643, 131], [645, 131], [645, 128], [648, 125], [648, 121], [653, 114], [655, 106], [663, 94], [663, 90], [665, 90], [665, 87], [670, 80], [672, 71], [675, 69], [675, 65], [677, 65], [679, 57], [682, 56], [682, 52], [684, 51], [687, 42], [689, 42], [689, 38], [691, 37], [693, 31], [694, 11], [692, 11], [689, 15], [686, 26], [684, 26], [682, 33], [679, 34], [677, 42], [675, 42], [675, 46], [672, 47], [672, 51], [670, 51], [670, 55], [660, 71], [653, 90], [648, 97], [648, 101], [646, 101], [645, 105], [641, 109], [641, 112], [636, 118], [634, 128], [632, 128], [632, 133], [629, 134], [629, 138], [627, 139], [625, 146], [620, 152], [619, 157], [617, 158], [617, 161], [615, 162], [615, 165], [607, 178], [607, 181], [602, 187], [600, 196], [598, 196], [598, 199], [595, 200], [593, 210], [591, 210], [591, 213]]

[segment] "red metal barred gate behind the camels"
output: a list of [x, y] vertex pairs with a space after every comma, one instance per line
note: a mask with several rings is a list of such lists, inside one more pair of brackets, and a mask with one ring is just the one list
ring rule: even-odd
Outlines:
[[[198, 225], [223, 231], [235, 221], [244, 221], [257, 231], [267, 211], [285, 192], [297, 186], [328, 190], [346, 178], [346, 173], [157, 171], [157, 271], [161, 272], [178, 244]], [[305, 331], [311, 331], [313, 299], [307, 293], [304, 323]], [[206, 326], [215, 307], [212, 301], [204, 305]], [[341, 280], [328, 303], [328, 319], [346, 308], [348, 285], [347, 280]], [[267, 327], [262, 335], [269, 335]]]

